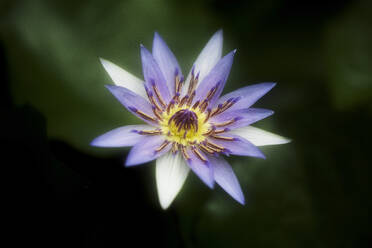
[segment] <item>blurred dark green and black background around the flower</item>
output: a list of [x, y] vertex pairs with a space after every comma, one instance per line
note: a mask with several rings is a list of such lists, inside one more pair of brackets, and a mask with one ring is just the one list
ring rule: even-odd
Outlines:
[[[1, 143], [13, 244], [39, 247], [368, 247], [371, 1], [2, 0]], [[238, 52], [225, 92], [278, 82], [256, 126], [290, 137], [266, 160], [229, 159], [240, 206], [190, 174], [162, 211], [153, 164], [89, 142], [138, 123], [104, 88], [106, 58], [142, 77], [158, 31], [184, 73], [224, 31]]]

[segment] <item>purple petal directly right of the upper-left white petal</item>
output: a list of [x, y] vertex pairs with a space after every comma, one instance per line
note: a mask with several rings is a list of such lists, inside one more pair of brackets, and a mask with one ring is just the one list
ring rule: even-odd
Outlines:
[[143, 76], [145, 78], [147, 88], [153, 89], [153, 85], [155, 85], [163, 100], [168, 103], [171, 100], [171, 96], [164, 75], [152, 54], [142, 45], [141, 59]]

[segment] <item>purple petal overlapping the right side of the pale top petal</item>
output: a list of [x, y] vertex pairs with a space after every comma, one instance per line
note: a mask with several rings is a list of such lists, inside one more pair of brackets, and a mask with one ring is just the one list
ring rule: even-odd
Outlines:
[[195, 101], [203, 100], [208, 92], [218, 85], [217, 91], [210, 101], [210, 106], [213, 106], [216, 100], [220, 97], [227, 78], [229, 77], [231, 65], [234, 59], [235, 51], [230, 52], [225, 57], [220, 59], [213, 67], [211, 72], [200, 82], [196, 89]]

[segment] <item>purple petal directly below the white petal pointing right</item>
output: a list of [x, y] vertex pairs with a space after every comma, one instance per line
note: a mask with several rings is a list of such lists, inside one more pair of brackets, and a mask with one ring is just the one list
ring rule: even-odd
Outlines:
[[234, 138], [233, 141], [211, 138], [213, 143], [223, 146], [227, 154], [265, 158], [265, 155], [248, 140], [229, 133], [224, 133], [221, 136]]

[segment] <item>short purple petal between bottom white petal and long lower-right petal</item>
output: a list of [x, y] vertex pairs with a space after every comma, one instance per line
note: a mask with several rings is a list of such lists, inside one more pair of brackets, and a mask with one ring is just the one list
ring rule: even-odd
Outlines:
[[[191, 170], [210, 188], [214, 187], [213, 168], [210, 163], [201, 161], [191, 149], [187, 150], [190, 159], [186, 160]], [[204, 155], [205, 158], [207, 158]]]

